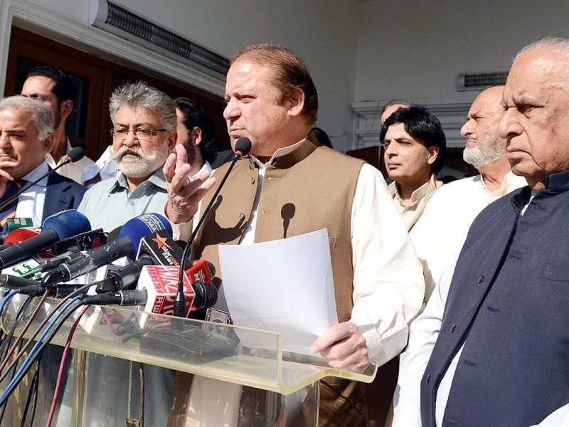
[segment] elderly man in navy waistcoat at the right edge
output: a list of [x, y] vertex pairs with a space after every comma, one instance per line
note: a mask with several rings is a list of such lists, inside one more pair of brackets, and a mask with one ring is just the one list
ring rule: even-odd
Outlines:
[[460, 253], [421, 381], [422, 426], [569, 425], [569, 40], [514, 59], [499, 135], [528, 186]]

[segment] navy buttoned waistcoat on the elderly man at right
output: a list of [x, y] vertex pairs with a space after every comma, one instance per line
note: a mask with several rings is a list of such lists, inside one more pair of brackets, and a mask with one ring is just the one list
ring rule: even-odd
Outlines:
[[531, 426], [569, 402], [569, 172], [494, 202], [472, 224], [421, 382], [435, 426], [442, 376], [465, 342], [443, 426]]

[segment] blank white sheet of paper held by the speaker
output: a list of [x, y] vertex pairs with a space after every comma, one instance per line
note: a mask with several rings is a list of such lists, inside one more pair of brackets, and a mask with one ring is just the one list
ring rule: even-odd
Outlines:
[[312, 342], [338, 323], [326, 229], [219, 246], [219, 259], [220, 297], [225, 295], [235, 325], [282, 332], [285, 351], [312, 354]]

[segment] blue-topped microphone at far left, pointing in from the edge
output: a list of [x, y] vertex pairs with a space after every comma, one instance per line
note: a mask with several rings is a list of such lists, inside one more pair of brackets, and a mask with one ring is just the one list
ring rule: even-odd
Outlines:
[[[43, 231], [26, 241], [0, 251], [0, 270], [30, 258], [53, 243], [90, 231], [87, 217], [75, 210], [61, 211], [43, 221]], [[16, 231], [16, 230], [14, 230]]]

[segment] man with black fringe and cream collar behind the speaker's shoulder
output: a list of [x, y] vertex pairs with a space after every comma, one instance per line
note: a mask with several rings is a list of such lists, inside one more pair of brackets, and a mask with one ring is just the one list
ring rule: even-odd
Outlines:
[[437, 117], [413, 105], [393, 112], [383, 123], [379, 138], [385, 148], [385, 168], [393, 179], [389, 191], [410, 231], [442, 186], [436, 174], [445, 162], [445, 133]]

